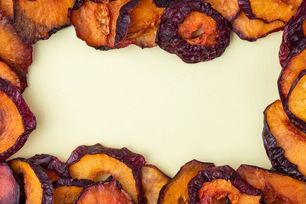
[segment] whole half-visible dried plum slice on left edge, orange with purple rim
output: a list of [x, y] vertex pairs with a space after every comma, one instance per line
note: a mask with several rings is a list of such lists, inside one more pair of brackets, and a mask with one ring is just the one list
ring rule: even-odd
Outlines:
[[0, 78], [0, 162], [22, 148], [36, 129], [34, 114], [27, 107], [21, 92]]

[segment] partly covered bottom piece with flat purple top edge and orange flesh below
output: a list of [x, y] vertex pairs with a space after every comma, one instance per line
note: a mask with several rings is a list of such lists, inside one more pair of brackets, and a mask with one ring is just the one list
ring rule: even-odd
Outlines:
[[60, 179], [53, 182], [53, 204], [73, 204], [83, 188], [92, 183], [87, 179]]

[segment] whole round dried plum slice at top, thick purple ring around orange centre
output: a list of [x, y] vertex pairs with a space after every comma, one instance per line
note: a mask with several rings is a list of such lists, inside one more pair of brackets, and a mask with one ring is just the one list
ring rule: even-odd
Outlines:
[[[203, 33], [193, 36], [198, 30]], [[163, 13], [155, 42], [185, 63], [205, 62], [223, 54], [230, 43], [230, 29], [210, 4], [176, 0]]]

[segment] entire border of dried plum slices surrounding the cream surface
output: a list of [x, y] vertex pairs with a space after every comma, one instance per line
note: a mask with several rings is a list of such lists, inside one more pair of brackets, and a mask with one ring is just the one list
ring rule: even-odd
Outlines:
[[[0, 0], [0, 8], [1, 204], [305, 203], [305, 0]], [[36, 128], [22, 98], [31, 44], [70, 23], [96, 49], [158, 45], [186, 63], [222, 55], [230, 28], [248, 41], [284, 29], [281, 100], [264, 111], [262, 134], [273, 168], [241, 165], [234, 170], [192, 160], [171, 179], [145, 165], [143, 156], [101, 144], [77, 147], [66, 162], [51, 155], [5, 161]], [[111, 176], [94, 182], [105, 173]]]

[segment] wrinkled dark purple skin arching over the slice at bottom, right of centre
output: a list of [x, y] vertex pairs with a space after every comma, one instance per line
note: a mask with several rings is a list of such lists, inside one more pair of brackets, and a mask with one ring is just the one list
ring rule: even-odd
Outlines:
[[203, 169], [198, 175], [188, 183], [188, 204], [197, 204], [198, 197], [197, 192], [202, 187], [203, 182], [211, 182], [216, 179], [224, 179], [231, 181], [232, 185], [237, 188], [241, 193], [245, 193], [249, 196], [261, 196], [260, 204], [265, 204], [265, 200], [262, 196], [262, 191], [254, 188], [248, 184], [232, 167], [215, 166], [207, 169]]

